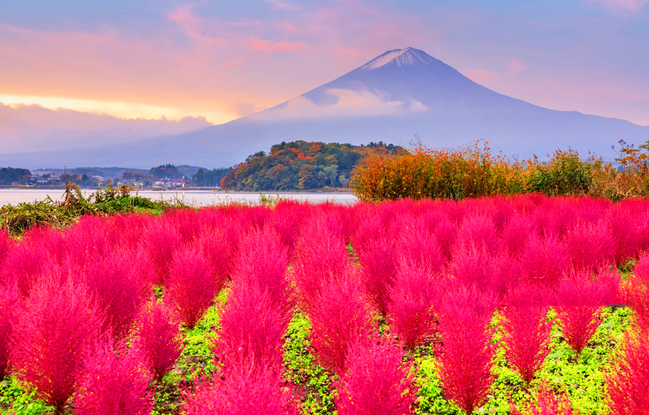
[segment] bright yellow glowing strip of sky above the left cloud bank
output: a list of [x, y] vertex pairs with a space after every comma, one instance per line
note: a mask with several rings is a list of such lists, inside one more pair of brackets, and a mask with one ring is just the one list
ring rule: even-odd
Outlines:
[[223, 124], [239, 118], [235, 111], [220, 111], [219, 109], [182, 109], [178, 107], [155, 106], [140, 104], [138, 102], [117, 102], [86, 100], [77, 98], [59, 98], [55, 96], [23, 96], [2, 95], [0, 103], [16, 107], [32, 105], [47, 109], [71, 109], [84, 113], [107, 114], [117, 118], [143, 118], [157, 120], [165, 117], [171, 120], [180, 120], [184, 117], [205, 117], [212, 124]]

